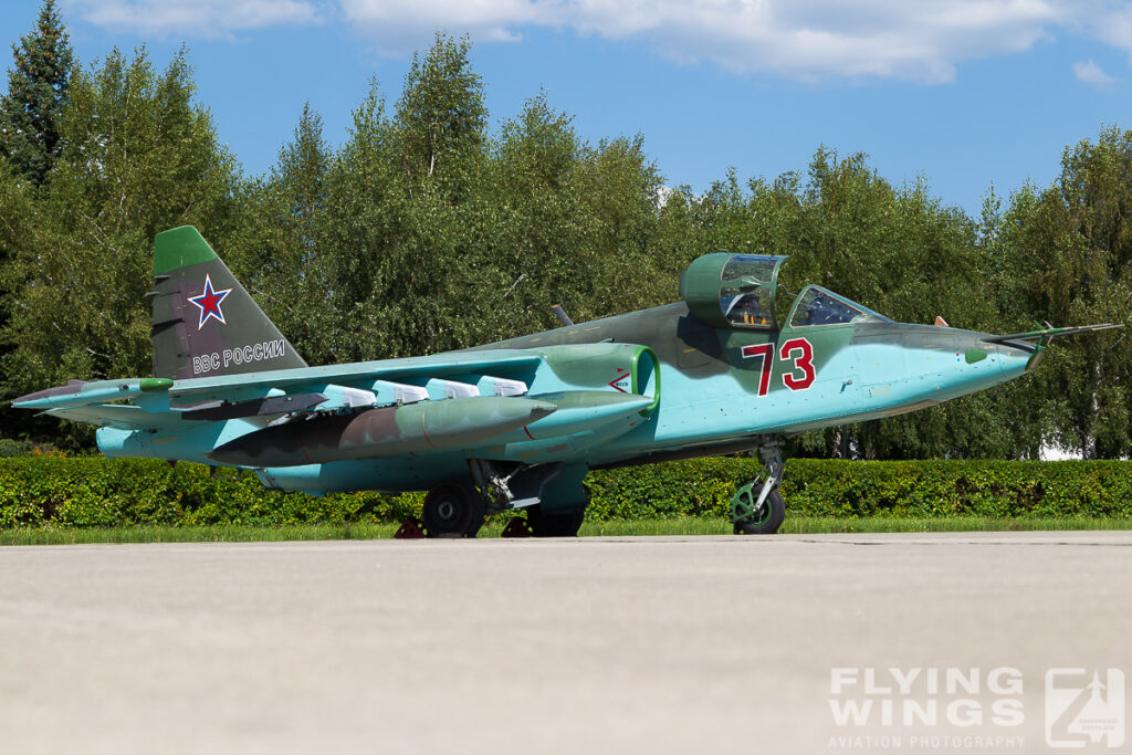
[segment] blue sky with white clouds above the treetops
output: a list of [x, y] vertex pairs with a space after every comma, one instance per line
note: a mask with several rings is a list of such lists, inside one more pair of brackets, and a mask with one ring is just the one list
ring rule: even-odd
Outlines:
[[[0, 38], [37, 0], [6, 0]], [[248, 173], [305, 101], [332, 144], [376, 77], [392, 103], [435, 29], [469, 34], [498, 122], [546, 89], [588, 139], [643, 134], [669, 185], [805, 170], [818, 145], [923, 175], [977, 214], [1046, 186], [1062, 149], [1132, 128], [1132, 3], [1112, 0], [61, 0], [85, 63], [183, 43]]]

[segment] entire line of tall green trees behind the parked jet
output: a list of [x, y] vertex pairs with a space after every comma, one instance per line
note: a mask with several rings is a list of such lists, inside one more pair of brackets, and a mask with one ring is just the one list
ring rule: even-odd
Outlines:
[[[0, 398], [151, 371], [155, 233], [196, 225], [310, 363], [435, 353], [667, 303], [695, 257], [784, 254], [893, 319], [1007, 333], [1129, 323], [1132, 131], [1065, 148], [1046, 188], [988, 190], [971, 217], [920, 179], [818, 147], [804, 170], [668, 187], [641, 136], [578, 136], [546, 93], [496, 128], [466, 38], [438, 34], [391, 103], [372, 81], [345, 143], [303, 106], [247, 175], [188, 53], [83, 66], [54, 0], [12, 45], [0, 98]], [[1132, 453], [1124, 331], [1066, 340], [1021, 380], [927, 411], [814, 431], [801, 455], [1089, 458]], [[0, 410], [0, 437], [91, 446]]]

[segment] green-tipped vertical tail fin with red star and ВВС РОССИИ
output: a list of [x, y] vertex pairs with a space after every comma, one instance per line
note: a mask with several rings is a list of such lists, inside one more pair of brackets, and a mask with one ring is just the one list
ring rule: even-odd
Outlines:
[[191, 225], [154, 238], [153, 275], [154, 377], [307, 366]]

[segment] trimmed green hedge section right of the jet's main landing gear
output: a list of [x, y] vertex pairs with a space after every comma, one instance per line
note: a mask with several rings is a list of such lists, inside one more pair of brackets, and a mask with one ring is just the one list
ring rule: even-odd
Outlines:
[[[592, 473], [591, 518], [727, 515], [751, 458], [702, 458]], [[1132, 516], [1130, 462], [792, 458], [787, 516]]]

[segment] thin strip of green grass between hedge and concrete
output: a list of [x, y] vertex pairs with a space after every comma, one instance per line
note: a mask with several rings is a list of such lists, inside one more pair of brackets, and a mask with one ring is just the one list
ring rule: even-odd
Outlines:
[[[481, 538], [498, 538], [506, 518], [488, 522]], [[131, 526], [89, 529], [33, 529], [0, 531], [0, 546], [62, 546], [104, 542], [273, 542], [286, 540], [376, 540], [392, 538], [396, 524], [295, 524], [263, 526], [228, 524], [215, 526]], [[837, 532], [1004, 532], [1017, 530], [1132, 530], [1132, 520], [1078, 517], [988, 518], [947, 516], [936, 518], [838, 518], [787, 517], [782, 533], [817, 534]], [[723, 518], [686, 517], [671, 520], [586, 522], [582, 537], [703, 535], [730, 534]]]

